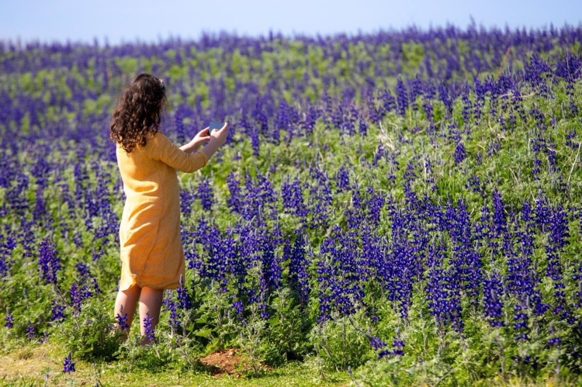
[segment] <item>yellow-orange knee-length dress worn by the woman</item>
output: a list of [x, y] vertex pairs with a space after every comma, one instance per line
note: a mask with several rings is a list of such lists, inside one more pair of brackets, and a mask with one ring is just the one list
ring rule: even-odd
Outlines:
[[119, 290], [133, 285], [175, 289], [184, 273], [180, 241], [180, 195], [176, 170], [204, 167], [207, 155], [186, 153], [158, 131], [145, 146], [127, 153], [118, 143], [119, 172], [126, 195], [119, 225]]

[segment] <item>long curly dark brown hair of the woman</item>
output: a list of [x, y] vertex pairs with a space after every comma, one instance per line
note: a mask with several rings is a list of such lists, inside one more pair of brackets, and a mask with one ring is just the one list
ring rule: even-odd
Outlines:
[[139, 74], [127, 86], [113, 112], [109, 138], [127, 153], [145, 146], [148, 134], [156, 134], [168, 99], [162, 81], [151, 74]]

